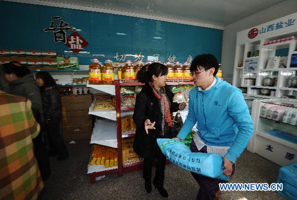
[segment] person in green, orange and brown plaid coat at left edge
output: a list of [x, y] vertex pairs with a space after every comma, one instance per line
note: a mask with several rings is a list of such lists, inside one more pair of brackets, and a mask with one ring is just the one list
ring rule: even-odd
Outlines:
[[0, 90], [0, 199], [36, 200], [44, 183], [32, 139], [40, 131], [31, 101]]

